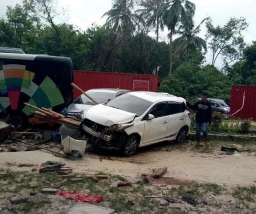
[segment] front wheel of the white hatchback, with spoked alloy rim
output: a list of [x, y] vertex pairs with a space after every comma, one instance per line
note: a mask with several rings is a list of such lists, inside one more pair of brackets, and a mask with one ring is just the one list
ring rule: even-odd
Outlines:
[[125, 139], [122, 145], [121, 152], [124, 156], [128, 157], [136, 153], [139, 145], [139, 139], [135, 135], [130, 135]]

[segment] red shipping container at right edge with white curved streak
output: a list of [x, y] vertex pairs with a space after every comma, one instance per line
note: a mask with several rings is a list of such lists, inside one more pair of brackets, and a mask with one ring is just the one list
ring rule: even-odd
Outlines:
[[256, 86], [232, 87], [230, 113], [237, 119], [256, 120]]

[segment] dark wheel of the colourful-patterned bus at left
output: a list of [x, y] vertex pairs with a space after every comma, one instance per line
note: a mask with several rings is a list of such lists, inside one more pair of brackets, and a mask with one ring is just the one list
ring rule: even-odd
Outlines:
[[28, 127], [28, 118], [22, 113], [14, 112], [9, 115], [7, 123], [14, 130], [23, 130]]

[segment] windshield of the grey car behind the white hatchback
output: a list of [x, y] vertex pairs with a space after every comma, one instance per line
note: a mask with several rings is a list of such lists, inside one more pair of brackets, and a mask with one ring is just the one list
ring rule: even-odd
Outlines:
[[[106, 103], [108, 100], [113, 99], [114, 93], [109, 92], [86, 92], [87, 95], [92, 97], [98, 103]], [[81, 95], [79, 98], [75, 100], [76, 104], [85, 104], [85, 105], [94, 105], [95, 103], [92, 102], [89, 98], [85, 95]]]

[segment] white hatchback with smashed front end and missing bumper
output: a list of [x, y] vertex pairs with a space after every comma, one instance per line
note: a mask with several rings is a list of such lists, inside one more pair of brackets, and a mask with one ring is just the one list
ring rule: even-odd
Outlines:
[[130, 92], [86, 111], [82, 129], [95, 147], [125, 156], [161, 141], [182, 143], [190, 130], [186, 101], [167, 93]]

